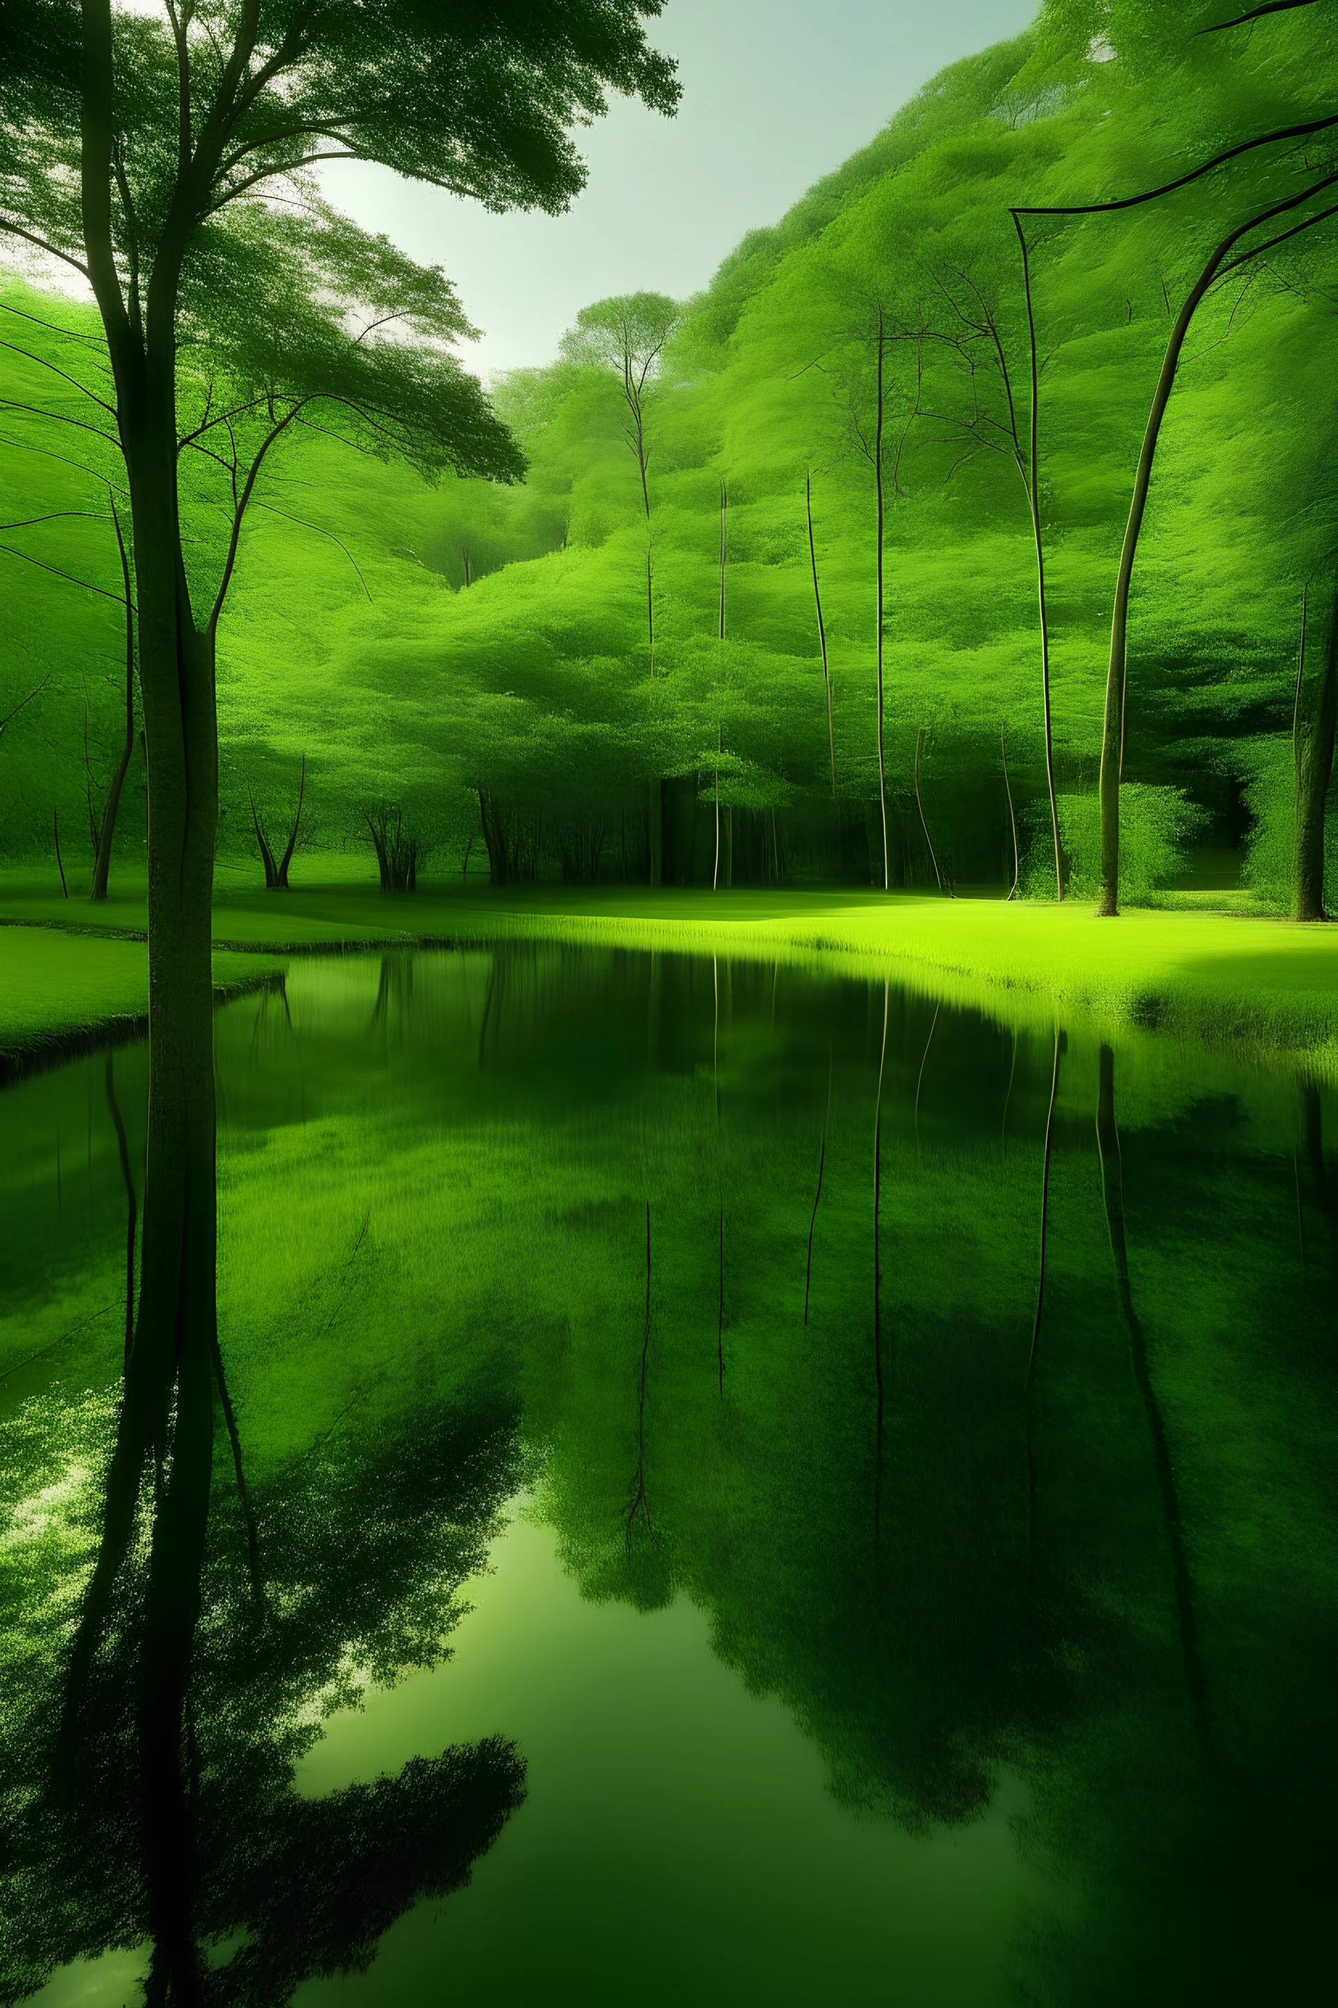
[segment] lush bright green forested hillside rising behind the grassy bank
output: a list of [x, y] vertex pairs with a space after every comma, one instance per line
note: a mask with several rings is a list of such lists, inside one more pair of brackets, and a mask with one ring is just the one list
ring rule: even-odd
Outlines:
[[[369, 825], [399, 829], [431, 871], [487, 851], [495, 882], [953, 890], [1013, 882], [1015, 821], [1021, 890], [1053, 898], [1035, 486], [1061, 869], [1091, 894], [1111, 602], [1167, 339], [1210, 251], [1318, 187], [1192, 319], [1129, 610], [1125, 896], [1200, 851], [1210, 884], [1244, 861], [1290, 904], [1294, 745], [1332, 683], [1338, 253], [1334, 221], [1286, 233], [1326, 209], [1330, 135], [1141, 207], [1019, 219], [1035, 470], [1011, 215], [1332, 114], [1328, 0], [1194, 32], [1222, 16], [1049, 0], [706, 293], [596, 303], [552, 367], [495, 384], [516, 486], [427, 488], [307, 412], [221, 629], [223, 849], [257, 855], [255, 803], [281, 851], [305, 785], [303, 843], [371, 859]], [[124, 739], [116, 470], [84, 430], [92, 319], [18, 281], [4, 307], [38, 359], [0, 351], [0, 717], [36, 695], [0, 737], [0, 843], [50, 857], [56, 813], [82, 888]], [[203, 384], [207, 357], [189, 367]], [[201, 486], [203, 564], [213, 524]], [[126, 863], [142, 815], [134, 757]]]

